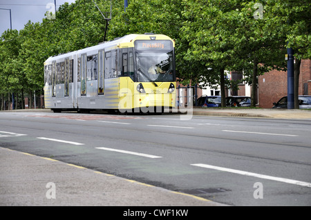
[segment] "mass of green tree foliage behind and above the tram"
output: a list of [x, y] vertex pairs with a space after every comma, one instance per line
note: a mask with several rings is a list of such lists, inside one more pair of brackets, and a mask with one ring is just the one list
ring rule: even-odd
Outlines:
[[[93, 46], [104, 40], [110, 1], [77, 0], [60, 6], [55, 19], [28, 21], [8, 30], [0, 42], [0, 94], [42, 90], [44, 61], [53, 55]], [[256, 94], [258, 74], [285, 68], [285, 49], [296, 59], [310, 59], [308, 0], [131, 0], [113, 1], [107, 39], [154, 32], [176, 41], [177, 77], [186, 83], [232, 81], [225, 70], [243, 71]], [[106, 17], [108, 14], [104, 13]], [[254, 98], [254, 97], [253, 97]]]

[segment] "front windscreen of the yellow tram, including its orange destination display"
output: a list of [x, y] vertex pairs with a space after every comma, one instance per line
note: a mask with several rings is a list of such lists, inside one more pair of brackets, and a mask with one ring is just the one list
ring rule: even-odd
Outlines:
[[137, 41], [135, 49], [138, 81], [175, 81], [171, 41]]

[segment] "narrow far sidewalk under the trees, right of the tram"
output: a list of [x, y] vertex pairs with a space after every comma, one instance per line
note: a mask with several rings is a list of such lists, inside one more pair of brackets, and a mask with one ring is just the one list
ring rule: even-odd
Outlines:
[[194, 108], [194, 115], [311, 120], [311, 110], [269, 108]]

